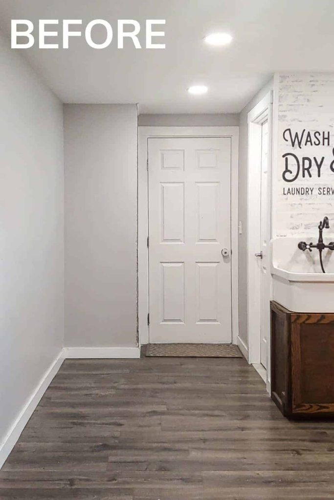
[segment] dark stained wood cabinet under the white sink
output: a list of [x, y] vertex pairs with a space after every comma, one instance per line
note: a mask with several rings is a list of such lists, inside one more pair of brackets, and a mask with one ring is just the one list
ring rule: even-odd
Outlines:
[[289, 418], [334, 417], [334, 314], [271, 301], [271, 397]]

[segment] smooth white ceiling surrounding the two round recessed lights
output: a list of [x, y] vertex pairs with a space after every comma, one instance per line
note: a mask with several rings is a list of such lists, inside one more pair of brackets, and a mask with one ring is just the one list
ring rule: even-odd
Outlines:
[[[0, 0], [8, 35], [12, 18], [112, 24], [114, 40], [103, 50], [84, 37], [71, 38], [68, 50], [37, 44], [20, 50], [64, 102], [138, 102], [141, 113], [231, 113], [274, 71], [334, 71], [334, 0]], [[143, 29], [147, 18], [166, 19], [166, 49], [136, 50], [131, 40], [117, 49], [122, 18], [137, 19]], [[231, 33], [231, 45], [205, 45], [203, 36], [216, 30]], [[144, 35], [145, 29], [142, 45]], [[195, 83], [209, 92], [189, 95]]]

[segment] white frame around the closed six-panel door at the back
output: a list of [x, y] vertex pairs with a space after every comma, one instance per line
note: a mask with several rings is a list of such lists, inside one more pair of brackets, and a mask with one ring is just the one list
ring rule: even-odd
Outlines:
[[237, 126], [138, 127], [138, 333], [139, 344], [149, 341], [148, 291], [148, 139], [151, 137], [231, 138], [231, 296], [232, 342], [238, 337], [238, 141]]

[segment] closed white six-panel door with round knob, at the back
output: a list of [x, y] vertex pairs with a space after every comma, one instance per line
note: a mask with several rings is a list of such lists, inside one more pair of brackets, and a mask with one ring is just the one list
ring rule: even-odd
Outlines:
[[150, 342], [231, 342], [231, 139], [149, 138], [148, 185]]

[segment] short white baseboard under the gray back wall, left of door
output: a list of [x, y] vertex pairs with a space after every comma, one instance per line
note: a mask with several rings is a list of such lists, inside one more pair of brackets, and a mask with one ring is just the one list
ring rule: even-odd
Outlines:
[[64, 347], [69, 359], [118, 359], [140, 357], [139, 347]]

